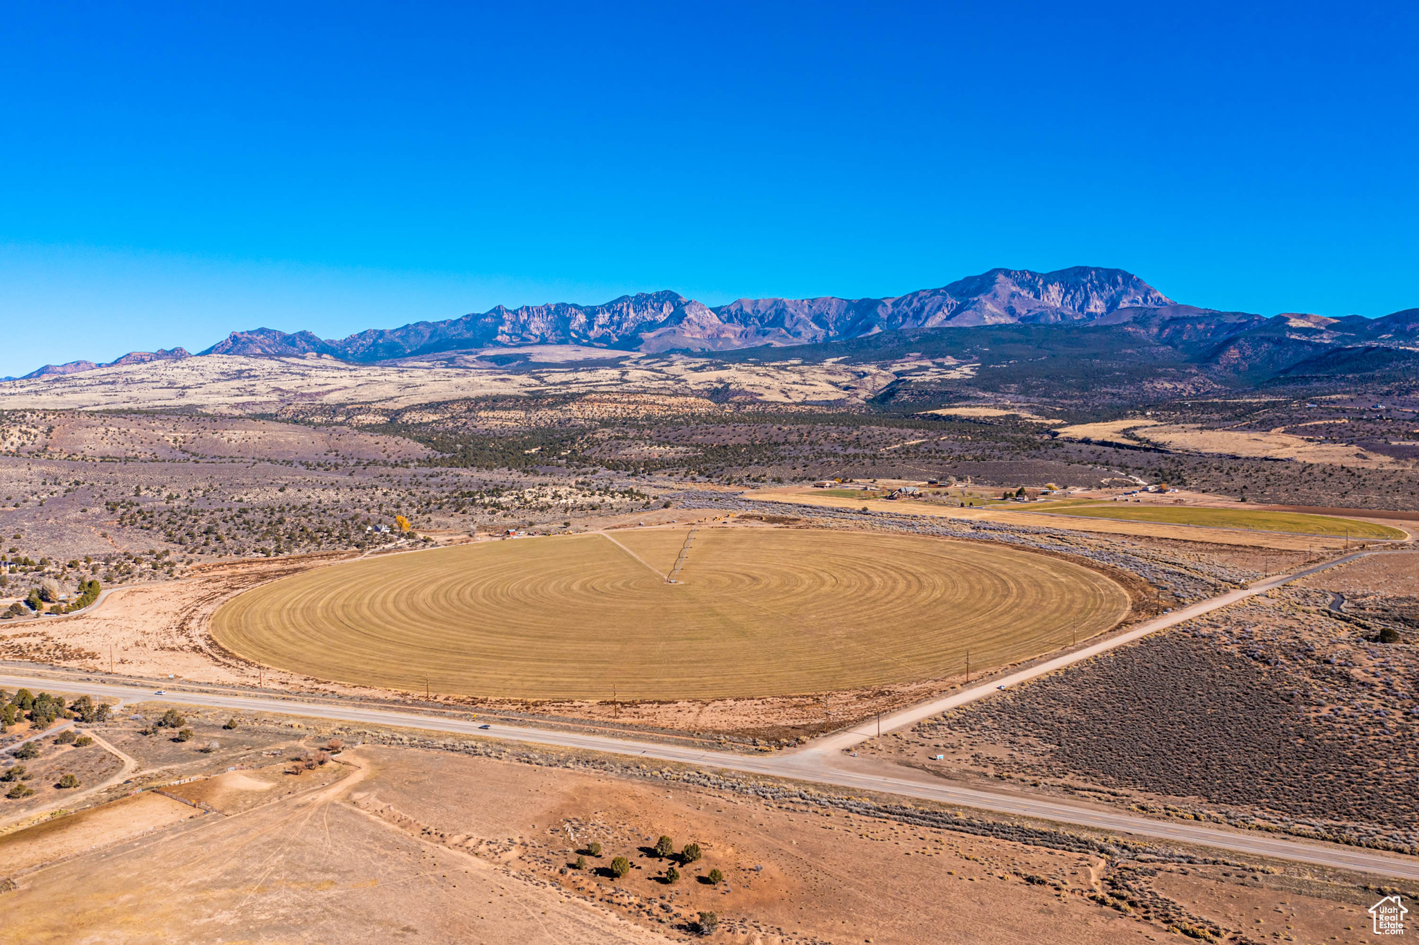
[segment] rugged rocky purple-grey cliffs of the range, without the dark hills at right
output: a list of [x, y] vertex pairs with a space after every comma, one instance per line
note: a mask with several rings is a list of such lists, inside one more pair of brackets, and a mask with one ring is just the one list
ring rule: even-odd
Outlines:
[[448, 322], [370, 329], [338, 341], [322, 341], [308, 332], [258, 329], [236, 332], [203, 354], [318, 353], [379, 361], [487, 344], [722, 351], [853, 339], [902, 327], [1088, 322], [1118, 309], [1164, 305], [1171, 300], [1122, 269], [992, 269], [941, 289], [887, 299], [739, 299], [710, 307], [675, 292], [647, 292], [604, 305], [498, 306]]

